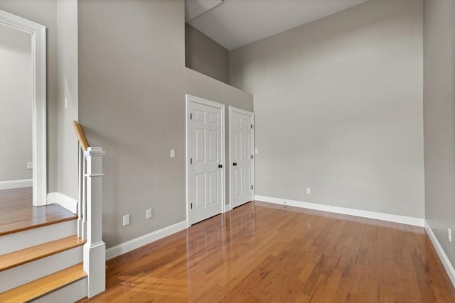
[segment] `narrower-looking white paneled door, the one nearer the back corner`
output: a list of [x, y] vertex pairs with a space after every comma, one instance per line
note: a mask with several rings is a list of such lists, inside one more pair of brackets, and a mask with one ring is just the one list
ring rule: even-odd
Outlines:
[[230, 197], [232, 208], [252, 200], [252, 113], [230, 110]]

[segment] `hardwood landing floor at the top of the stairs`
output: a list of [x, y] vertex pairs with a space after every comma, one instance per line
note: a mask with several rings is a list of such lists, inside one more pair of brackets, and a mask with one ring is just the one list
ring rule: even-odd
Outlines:
[[32, 206], [32, 187], [0, 190], [0, 236], [75, 219], [58, 204]]

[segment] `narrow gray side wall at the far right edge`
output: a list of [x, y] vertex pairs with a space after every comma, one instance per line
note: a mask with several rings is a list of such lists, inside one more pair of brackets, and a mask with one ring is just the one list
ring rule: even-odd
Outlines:
[[[455, 1], [424, 1], [425, 215], [455, 266]], [[447, 228], [452, 230], [449, 242]]]

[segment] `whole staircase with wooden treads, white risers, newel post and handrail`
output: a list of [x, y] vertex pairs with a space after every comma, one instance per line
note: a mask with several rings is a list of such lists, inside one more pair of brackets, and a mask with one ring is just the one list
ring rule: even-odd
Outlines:
[[[105, 290], [106, 248], [102, 241], [102, 156], [79, 139], [77, 215], [0, 229], [0, 302], [76, 302]], [[52, 207], [41, 206], [41, 207]], [[44, 209], [47, 211], [47, 209]], [[21, 212], [12, 217], [22, 216]]]

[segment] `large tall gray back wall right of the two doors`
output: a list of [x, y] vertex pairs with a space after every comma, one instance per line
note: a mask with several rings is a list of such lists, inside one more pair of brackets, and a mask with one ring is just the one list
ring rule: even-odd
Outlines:
[[424, 218], [422, 9], [368, 1], [230, 52], [256, 194]]

